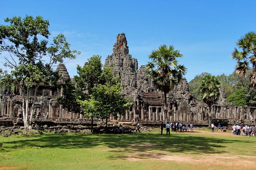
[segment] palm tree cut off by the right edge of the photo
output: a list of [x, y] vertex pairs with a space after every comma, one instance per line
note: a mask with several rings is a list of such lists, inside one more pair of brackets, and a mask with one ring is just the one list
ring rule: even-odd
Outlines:
[[256, 33], [254, 31], [246, 33], [244, 37], [237, 40], [236, 45], [242, 49], [242, 52], [235, 48], [231, 54], [231, 58], [237, 60], [235, 73], [246, 77], [246, 70], [251, 69], [251, 63], [253, 74], [250, 77], [250, 84], [256, 88]]

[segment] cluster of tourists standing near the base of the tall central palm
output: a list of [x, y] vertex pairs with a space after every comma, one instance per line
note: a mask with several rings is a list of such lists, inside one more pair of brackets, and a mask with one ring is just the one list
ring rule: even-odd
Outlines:
[[[179, 122], [171, 122], [171, 124], [169, 124], [169, 122], [167, 122], [165, 128], [166, 128], [166, 135], [169, 134], [170, 135], [170, 129], [172, 132], [189, 132], [188, 130], [188, 126], [190, 127], [190, 132], [193, 132], [193, 125], [192, 123], [188, 124], [183, 124], [183, 123], [179, 123]], [[163, 122], [161, 123], [161, 135], [163, 134]]]

